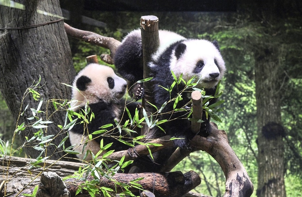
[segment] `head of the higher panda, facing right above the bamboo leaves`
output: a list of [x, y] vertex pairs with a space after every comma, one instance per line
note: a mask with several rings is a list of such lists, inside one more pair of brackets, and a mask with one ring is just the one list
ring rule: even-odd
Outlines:
[[177, 77], [183, 73], [185, 80], [200, 77], [198, 88], [214, 88], [226, 70], [217, 42], [198, 39], [188, 39], [175, 46], [170, 69]]

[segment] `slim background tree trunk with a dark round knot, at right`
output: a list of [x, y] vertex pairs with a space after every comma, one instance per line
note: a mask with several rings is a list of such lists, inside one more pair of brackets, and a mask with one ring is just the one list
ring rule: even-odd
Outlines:
[[258, 197], [285, 197], [284, 133], [281, 122], [278, 47], [270, 42], [255, 54], [255, 83], [258, 127]]

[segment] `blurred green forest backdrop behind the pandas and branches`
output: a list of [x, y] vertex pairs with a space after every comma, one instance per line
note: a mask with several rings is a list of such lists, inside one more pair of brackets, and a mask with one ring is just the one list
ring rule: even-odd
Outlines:
[[[227, 72], [221, 89], [225, 100], [223, 112], [216, 122], [228, 134], [231, 147], [245, 166], [254, 184], [256, 196], [259, 168], [257, 158], [257, 103], [255, 68], [259, 54], [277, 48], [277, 64], [271, 72], [280, 74], [276, 103], [281, 111], [280, 124], [285, 129], [284, 183], [287, 196], [302, 196], [302, 14], [298, 1], [282, 1], [282, 5], [238, 3], [235, 12], [114, 12], [87, 11], [84, 7], [61, 1], [61, 8], [69, 10], [65, 22], [82, 30], [121, 40], [127, 32], [139, 27], [140, 17], [155, 15], [159, 28], [177, 32], [187, 38], [217, 40], [226, 62]], [[266, 9], [264, 9], [266, 8]], [[82, 23], [82, 16], [103, 22], [102, 27]], [[109, 50], [69, 38], [73, 63], [78, 72], [85, 65], [85, 57], [109, 53]], [[273, 86], [266, 85], [267, 88]], [[269, 100], [269, 97], [263, 97]], [[15, 122], [0, 95], [1, 139], [11, 140]], [[20, 144], [16, 144], [16, 147]], [[25, 155], [15, 155], [25, 156]], [[276, 164], [278, 165], [278, 164]], [[173, 171], [194, 170], [202, 182], [195, 190], [211, 196], [222, 196], [225, 177], [218, 163], [205, 152], [191, 153]]]

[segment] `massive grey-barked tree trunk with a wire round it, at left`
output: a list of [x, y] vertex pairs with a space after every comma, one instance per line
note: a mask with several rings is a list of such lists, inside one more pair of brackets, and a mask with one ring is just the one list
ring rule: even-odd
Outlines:
[[[1, 27], [21, 27], [20, 29], [1, 29], [0, 30], [0, 88], [6, 103], [11, 110], [14, 119], [19, 117], [20, 106], [21, 112], [25, 106], [29, 104], [28, 109], [23, 116], [20, 116], [17, 124], [25, 125], [34, 122], [26, 118], [33, 116], [30, 108], [37, 109], [39, 101], [34, 100], [31, 95], [23, 99], [23, 94], [32, 83], [37, 83], [39, 75], [41, 82], [38, 86], [42, 86], [36, 91], [40, 93], [43, 99], [40, 113], [43, 120], [50, 117], [53, 124], [48, 124], [47, 130], [43, 130], [44, 136], [58, 134], [60, 129], [57, 125], [64, 125], [65, 111], [56, 112], [52, 115], [54, 109], [52, 103], [46, 102], [50, 99], [69, 99], [71, 90], [69, 87], [61, 84], [71, 84], [75, 76], [72, 66], [71, 52], [68, 44], [67, 35], [64, 30], [64, 22], [59, 5], [59, 0], [54, 1], [24, 1], [24, 9], [16, 9], [8, 6], [0, 7], [0, 26]], [[40, 13], [48, 14], [40, 14]], [[51, 22], [51, 23], [49, 23]], [[37, 25], [47, 23], [35, 27], [24, 27], [29, 25]], [[37, 121], [37, 119], [36, 119]], [[21, 131], [21, 141], [25, 141], [25, 137], [30, 139], [33, 133], [39, 131], [33, 127], [28, 127]], [[53, 144], [59, 144], [66, 136], [66, 133], [60, 134], [51, 141]], [[40, 151], [33, 149], [33, 143], [25, 147], [26, 153], [36, 158]], [[70, 146], [66, 141], [65, 147]], [[52, 159], [59, 159], [64, 152], [58, 152], [62, 148], [56, 149], [55, 146], [48, 146], [46, 155], [52, 155]], [[46, 153], [47, 152], [47, 153]], [[44, 156], [44, 155], [42, 155]]]

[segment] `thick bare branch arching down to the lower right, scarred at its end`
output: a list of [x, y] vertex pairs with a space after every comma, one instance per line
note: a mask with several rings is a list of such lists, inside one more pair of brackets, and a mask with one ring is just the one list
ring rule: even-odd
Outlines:
[[211, 123], [208, 137], [195, 136], [191, 146], [209, 153], [221, 166], [226, 177], [226, 196], [251, 196], [253, 184], [236, 153], [229, 145], [226, 132]]

